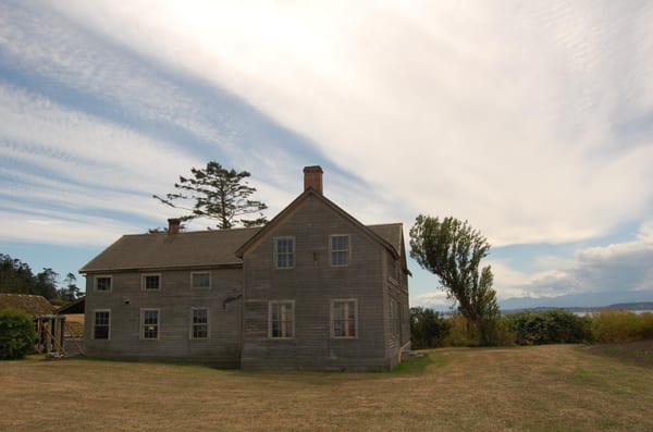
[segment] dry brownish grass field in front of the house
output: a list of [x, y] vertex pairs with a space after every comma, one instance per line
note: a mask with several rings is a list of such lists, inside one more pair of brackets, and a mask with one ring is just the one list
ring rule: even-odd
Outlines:
[[389, 373], [5, 361], [0, 430], [652, 431], [653, 368], [611, 349], [443, 348]]

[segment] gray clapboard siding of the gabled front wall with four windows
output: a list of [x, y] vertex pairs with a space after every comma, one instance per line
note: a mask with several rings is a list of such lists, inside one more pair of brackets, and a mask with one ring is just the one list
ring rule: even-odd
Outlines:
[[[332, 267], [330, 235], [349, 235], [347, 267]], [[295, 267], [275, 269], [274, 239], [295, 238]], [[386, 369], [385, 249], [320, 199], [308, 197], [244, 256], [242, 367]], [[331, 337], [331, 301], [355, 299], [357, 337]], [[271, 300], [293, 300], [293, 338], [269, 337]]]

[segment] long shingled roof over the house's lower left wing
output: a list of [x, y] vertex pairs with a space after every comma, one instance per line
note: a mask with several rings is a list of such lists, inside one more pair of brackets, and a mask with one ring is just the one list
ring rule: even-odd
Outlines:
[[239, 267], [236, 249], [260, 230], [123, 235], [79, 272]]

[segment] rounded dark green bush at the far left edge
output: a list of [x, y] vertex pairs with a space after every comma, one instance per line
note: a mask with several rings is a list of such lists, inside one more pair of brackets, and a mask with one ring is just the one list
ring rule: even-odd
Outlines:
[[0, 360], [25, 358], [34, 350], [36, 330], [24, 310], [0, 309]]

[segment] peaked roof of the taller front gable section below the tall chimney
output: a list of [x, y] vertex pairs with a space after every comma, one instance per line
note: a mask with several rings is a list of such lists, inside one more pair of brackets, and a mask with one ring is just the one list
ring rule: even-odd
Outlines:
[[316, 192], [312, 187], [307, 188], [301, 195], [299, 195], [293, 202], [291, 202], [285, 209], [274, 217], [266, 226], [263, 226], [258, 233], [251, 236], [247, 243], [236, 250], [236, 256], [243, 258], [247, 249], [257, 244], [271, 230], [278, 226], [286, 215], [291, 214], [301, 202], [307, 200], [309, 197], [321, 200], [324, 205], [333, 209], [336, 213], [341, 214], [343, 219], [346, 219], [349, 223], [358, 227], [368, 237], [374, 242], [383, 245], [395, 258], [401, 257], [402, 249], [402, 224], [386, 224], [386, 225], [372, 225], [366, 226], [360, 223], [356, 218], [347, 213], [345, 210], [340, 208], [336, 203], [324, 197], [322, 194]]

